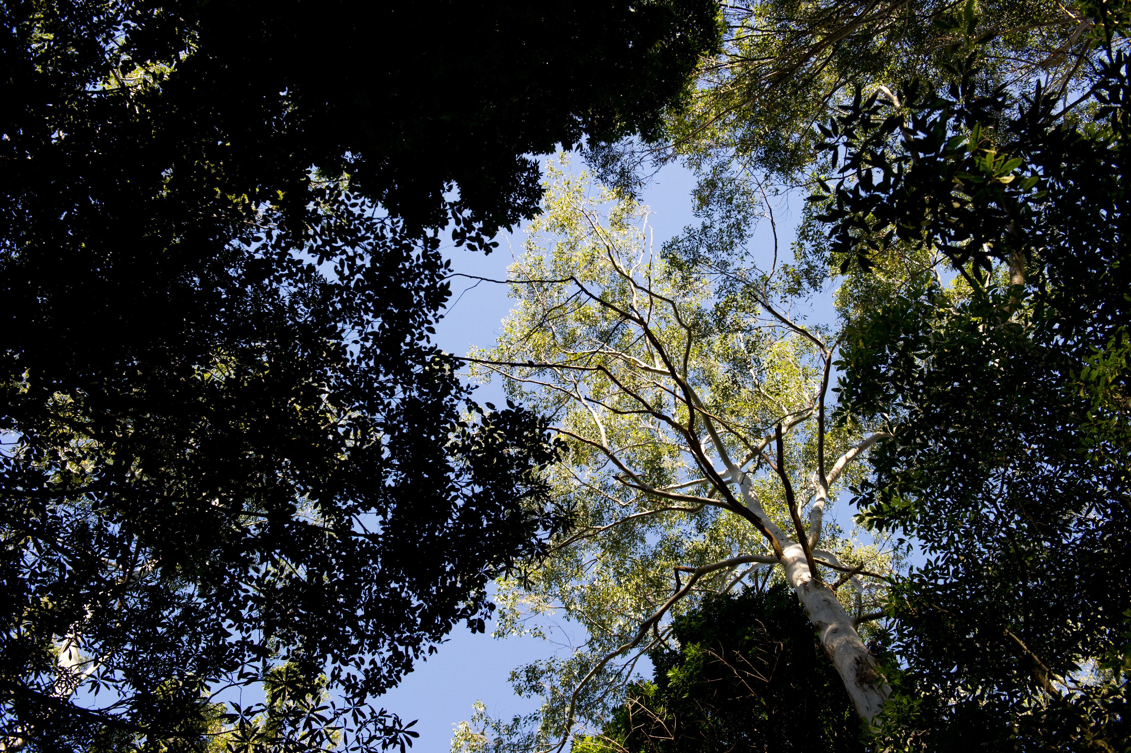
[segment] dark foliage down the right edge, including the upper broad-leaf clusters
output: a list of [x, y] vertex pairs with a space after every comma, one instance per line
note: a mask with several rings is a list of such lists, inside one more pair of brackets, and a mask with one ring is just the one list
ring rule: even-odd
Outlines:
[[843, 349], [841, 417], [897, 427], [855, 501], [926, 556], [888, 605], [905, 672], [886, 734], [1124, 750], [1126, 677], [1093, 673], [1131, 608], [1128, 60], [1110, 50], [1093, 122], [1039, 87], [978, 90], [966, 62], [949, 97], [857, 97], [824, 129], [847, 147], [826, 216], [844, 268], [926, 243], [967, 283], [924, 270]]

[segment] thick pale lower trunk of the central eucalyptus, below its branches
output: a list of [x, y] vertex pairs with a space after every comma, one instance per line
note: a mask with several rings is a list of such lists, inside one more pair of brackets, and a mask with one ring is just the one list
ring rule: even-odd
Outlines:
[[837, 595], [824, 583], [813, 581], [801, 545], [791, 542], [784, 552], [782, 566], [786, 580], [801, 599], [805, 616], [817, 628], [821, 648], [840, 674], [856, 712], [872, 724], [891, 687], [883, 682], [875, 658], [860, 640], [856, 625]]

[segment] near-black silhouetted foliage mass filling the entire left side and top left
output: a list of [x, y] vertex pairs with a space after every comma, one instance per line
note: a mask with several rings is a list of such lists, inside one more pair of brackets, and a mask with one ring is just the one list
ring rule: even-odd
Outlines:
[[426, 344], [437, 231], [490, 248], [524, 154], [654, 129], [716, 8], [442, 11], [0, 8], [6, 748], [183, 742], [276, 661], [333, 727], [563, 522], [538, 419], [463, 419]]

